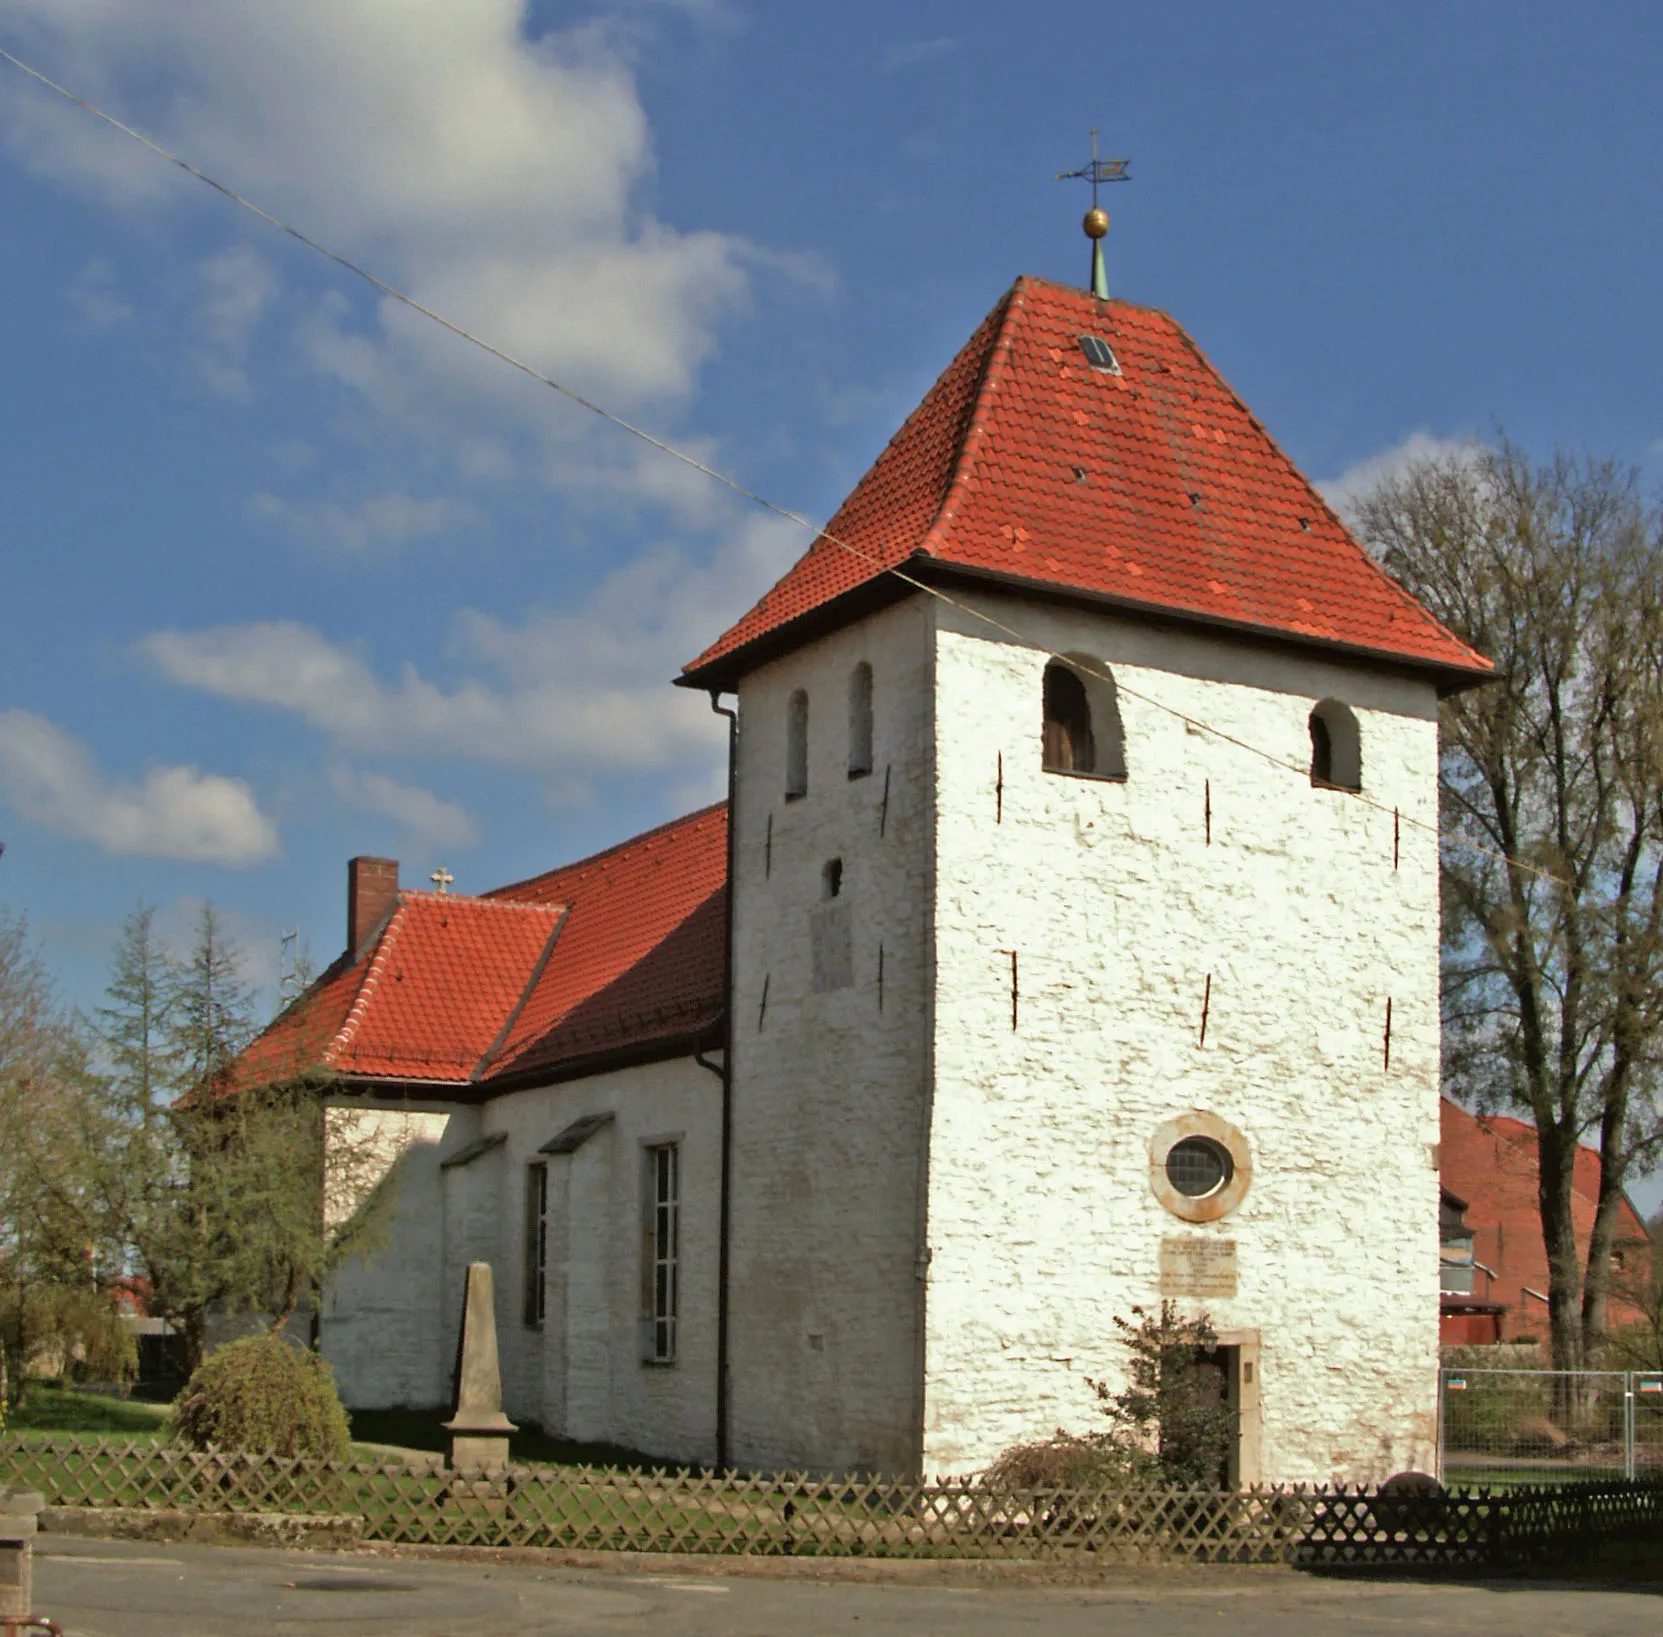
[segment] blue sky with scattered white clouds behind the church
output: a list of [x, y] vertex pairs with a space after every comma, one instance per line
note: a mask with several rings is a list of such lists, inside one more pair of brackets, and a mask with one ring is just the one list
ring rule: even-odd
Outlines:
[[[1655, 477], [1663, 10], [0, 0], [0, 45], [823, 517], [1019, 273], [1172, 311], [1312, 476]], [[720, 792], [677, 667], [802, 541], [0, 65], [0, 902], [93, 1000], [211, 898], [461, 890]], [[1375, 462], [1375, 464], [1370, 464]]]

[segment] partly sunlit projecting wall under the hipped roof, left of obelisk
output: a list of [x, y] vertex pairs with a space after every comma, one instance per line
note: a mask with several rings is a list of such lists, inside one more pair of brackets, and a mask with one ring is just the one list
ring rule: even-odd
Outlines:
[[447, 1105], [334, 1103], [324, 1113], [324, 1213], [344, 1221], [384, 1189], [364, 1249], [324, 1293], [323, 1356], [349, 1409], [427, 1409], [451, 1392], [446, 1346], [444, 1183], [439, 1170], [477, 1128]]

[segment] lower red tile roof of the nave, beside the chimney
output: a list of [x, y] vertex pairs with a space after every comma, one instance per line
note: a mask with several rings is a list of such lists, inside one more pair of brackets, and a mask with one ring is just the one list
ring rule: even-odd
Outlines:
[[238, 1058], [223, 1091], [299, 1075], [436, 1086], [552, 1078], [687, 1041], [722, 1013], [727, 807], [484, 897], [401, 892]]

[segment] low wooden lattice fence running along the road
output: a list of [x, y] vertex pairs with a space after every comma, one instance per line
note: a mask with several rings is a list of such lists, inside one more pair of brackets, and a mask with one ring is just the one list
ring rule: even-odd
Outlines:
[[1663, 1484], [1508, 1492], [996, 1489], [797, 1476], [200, 1454], [113, 1439], [0, 1441], [0, 1481], [48, 1504], [346, 1517], [366, 1541], [798, 1557], [1189, 1559], [1505, 1567], [1600, 1539], [1663, 1541]]

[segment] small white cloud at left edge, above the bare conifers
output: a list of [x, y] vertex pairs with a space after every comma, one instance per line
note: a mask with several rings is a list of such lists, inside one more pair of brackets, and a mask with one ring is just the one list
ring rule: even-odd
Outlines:
[[0, 790], [30, 822], [106, 853], [248, 865], [278, 850], [276, 823], [241, 779], [153, 767], [108, 784], [83, 745], [28, 710], [0, 710]]

